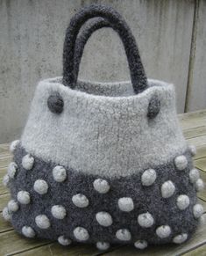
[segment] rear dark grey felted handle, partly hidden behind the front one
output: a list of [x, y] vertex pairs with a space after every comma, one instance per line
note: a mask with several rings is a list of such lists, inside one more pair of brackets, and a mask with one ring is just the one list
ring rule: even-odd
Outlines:
[[78, 35], [75, 43], [75, 84], [77, 81], [77, 77], [79, 74], [80, 62], [82, 60], [83, 49], [89, 40], [89, 37], [92, 33], [96, 32], [96, 30], [101, 29], [103, 27], [110, 27], [112, 26], [110, 22], [105, 18], [95, 18], [94, 20], [90, 21], [88, 25], [83, 27], [82, 33]]

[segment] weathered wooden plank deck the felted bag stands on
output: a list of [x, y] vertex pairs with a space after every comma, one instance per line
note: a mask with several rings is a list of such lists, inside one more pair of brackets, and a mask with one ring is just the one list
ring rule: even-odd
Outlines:
[[[206, 110], [195, 113], [179, 115], [183, 133], [190, 144], [197, 149], [195, 167], [201, 172], [201, 177], [206, 182]], [[2, 179], [11, 161], [9, 145], [0, 145], [0, 211], [10, 199], [9, 191], [2, 185]], [[198, 194], [205, 213], [206, 221], [206, 189]], [[206, 222], [201, 224], [195, 235], [183, 245], [149, 246], [145, 251], [138, 251], [132, 246], [113, 246], [107, 252], [99, 252], [95, 246], [70, 245], [61, 246], [58, 243], [46, 240], [26, 239], [18, 235], [12, 229], [10, 223], [6, 223], [0, 216], [0, 256], [2, 255], [206, 255]]]

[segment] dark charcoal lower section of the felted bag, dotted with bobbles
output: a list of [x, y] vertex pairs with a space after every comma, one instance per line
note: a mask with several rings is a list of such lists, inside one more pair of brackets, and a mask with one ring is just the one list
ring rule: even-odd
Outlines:
[[[188, 172], [193, 167], [189, 152], [185, 153], [188, 165], [182, 171], [175, 167], [174, 161], [167, 165], [153, 166], [156, 179], [150, 186], [143, 186], [144, 170], [128, 177], [108, 179], [67, 169], [66, 179], [60, 182], [60, 179], [65, 178], [61, 176], [58, 182], [55, 180], [56, 176], [53, 176], [53, 163], [34, 157], [33, 165], [25, 165], [22, 159], [26, 154], [19, 146], [15, 150], [14, 161], [18, 170], [10, 183], [11, 197], [18, 201], [19, 207], [12, 214], [11, 223], [19, 233], [23, 232], [23, 227], [29, 226], [36, 237], [53, 240], [64, 236], [86, 243], [102, 241], [131, 244], [144, 239], [148, 244], [164, 244], [172, 242], [180, 234], [187, 234], [189, 238], [195, 230], [197, 220], [193, 215], [193, 207], [196, 195], [195, 187], [188, 177]], [[23, 165], [30, 170], [25, 170]], [[107, 181], [108, 186], [102, 187], [102, 190], [101, 187], [94, 186], [94, 181], [98, 178]], [[39, 194], [38, 189], [34, 189], [37, 179], [46, 181], [48, 188], [45, 194]], [[172, 181], [175, 189], [171, 196], [164, 198], [162, 185], [168, 180]], [[29, 193], [29, 203], [19, 202], [19, 191]], [[165, 193], [168, 195], [171, 189], [167, 189]], [[81, 196], [74, 197], [76, 194]], [[189, 204], [185, 209], [177, 206], [180, 194], [188, 195]], [[130, 198], [127, 204], [124, 204], [124, 200], [118, 201], [124, 197]], [[54, 217], [54, 205], [62, 206], [66, 210], [66, 216], [62, 219]], [[101, 212], [104, 212], [104, 216], [96, 215]], [[141, 216], [144, 213], [147, 215]], [[43, 223], [40, 219], [37, 220], [37, 216], [41, 215], [47, 217]], [[56, 212], [56, 216], [62, 217], [60, 212]]]

